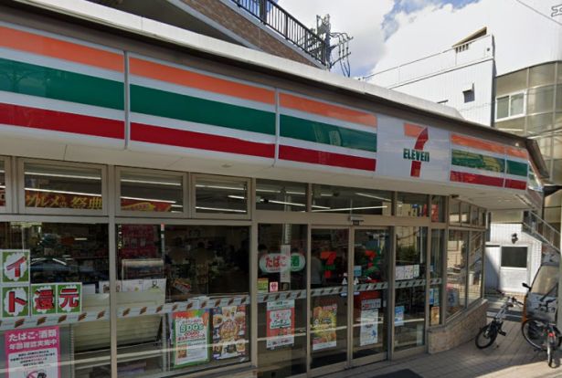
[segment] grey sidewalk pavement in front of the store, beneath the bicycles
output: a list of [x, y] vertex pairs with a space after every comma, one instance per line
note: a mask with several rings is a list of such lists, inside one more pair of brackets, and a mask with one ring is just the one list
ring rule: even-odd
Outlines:
[[423, 378], [562, 377], [562, 351], [557, 351], [557, 367], [552, 369], [546, 363], [546, 352], [535, 352], [525, 341], [520, 322], [505, 320], [503, 329], [507, 335], [498, 335], [493, 345], [484, 350], [477, 349], [472, 340], [450, 351], [422, 354], [393, 362], [372, 363], [342, 373], [325, 375], [325, 378], [374, 378], [404, 369], [418, 373]]

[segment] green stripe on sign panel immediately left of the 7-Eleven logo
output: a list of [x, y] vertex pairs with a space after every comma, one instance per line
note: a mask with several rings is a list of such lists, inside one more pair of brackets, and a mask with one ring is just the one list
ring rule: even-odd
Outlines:
[[376, 152], [376, 133], [281, 115], [281, 136], [301, 141]]

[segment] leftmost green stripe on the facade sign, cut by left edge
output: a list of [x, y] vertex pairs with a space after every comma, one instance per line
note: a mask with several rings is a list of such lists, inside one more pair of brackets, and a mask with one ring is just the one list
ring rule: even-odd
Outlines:
[[122, 82], [0, 58], [0, 90], [123, 110]]

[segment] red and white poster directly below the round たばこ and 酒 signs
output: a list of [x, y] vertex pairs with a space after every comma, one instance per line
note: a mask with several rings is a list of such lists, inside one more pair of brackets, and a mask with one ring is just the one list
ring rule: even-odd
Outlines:
[[294, 344], [294, 299], [268, 302], [267, 348]]

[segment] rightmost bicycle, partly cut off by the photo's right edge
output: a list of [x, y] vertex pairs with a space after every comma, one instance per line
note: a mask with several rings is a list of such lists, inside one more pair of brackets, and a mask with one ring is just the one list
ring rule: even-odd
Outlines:
[[[538, 311], [546, 314], [556, 311], [556, 309], [548, 307], [555, 300], [557, 299], [545, 300], [545, 297], [543, 297], [540, 299]], [[535, 350], [546, 351], [548, 366], [554, 368], [554, 353], [562, 343], [562, 334], [558, 330], [556, 322], [538, 318], [527, 319], [521, 324], [521, 332], [525, 341], [535, 347]]]

